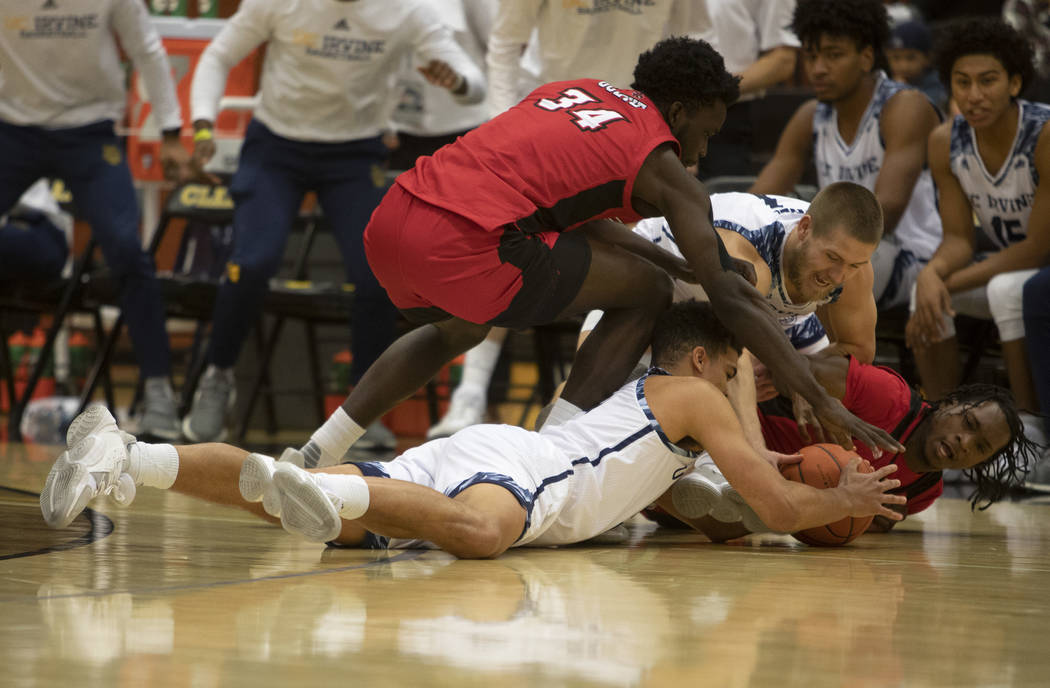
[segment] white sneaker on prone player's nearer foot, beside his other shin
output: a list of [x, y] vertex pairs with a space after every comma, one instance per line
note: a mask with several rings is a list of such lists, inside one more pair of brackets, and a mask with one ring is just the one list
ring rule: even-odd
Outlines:
[[273, 484], [280, 497], [280, 524], [312, 542], [335, 540], [342, 529], [342, 500], [323, 489], [314, 476], [291, 463], [278, 463]]

